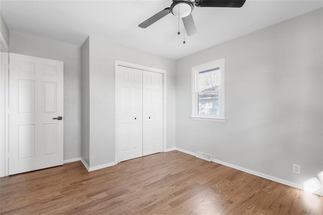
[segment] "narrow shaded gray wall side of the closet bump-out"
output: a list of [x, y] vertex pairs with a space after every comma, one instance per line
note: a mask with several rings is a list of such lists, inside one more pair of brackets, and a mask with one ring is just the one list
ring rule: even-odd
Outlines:
[[82, 159], [90, 165], [90, 49], [89, 37], [81, 47], [82, 68]]

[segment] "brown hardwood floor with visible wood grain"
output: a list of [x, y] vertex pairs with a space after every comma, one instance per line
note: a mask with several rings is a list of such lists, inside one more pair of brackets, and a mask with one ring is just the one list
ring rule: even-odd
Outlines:
[[1, 214], [323, 214], [323, 197], [172, 151], [0, 178]]

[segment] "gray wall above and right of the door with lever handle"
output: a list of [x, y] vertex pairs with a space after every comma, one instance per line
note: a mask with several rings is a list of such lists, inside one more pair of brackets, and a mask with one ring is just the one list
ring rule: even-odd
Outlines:
[[10, 32], [10, 51], [64, 61], [64, 160], [81, 157], [81, 49]]

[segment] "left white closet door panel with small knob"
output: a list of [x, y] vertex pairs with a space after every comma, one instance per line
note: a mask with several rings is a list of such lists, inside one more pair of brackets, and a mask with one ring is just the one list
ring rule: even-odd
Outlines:
[[116, 71], [117, 161], [142, 157], [142, 70], [118, 66]]

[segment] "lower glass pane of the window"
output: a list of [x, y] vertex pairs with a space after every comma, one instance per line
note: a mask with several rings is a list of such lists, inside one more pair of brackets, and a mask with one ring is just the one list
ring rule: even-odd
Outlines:
[[198, 114], [219, 114], [219, 92], [198, 94]]

